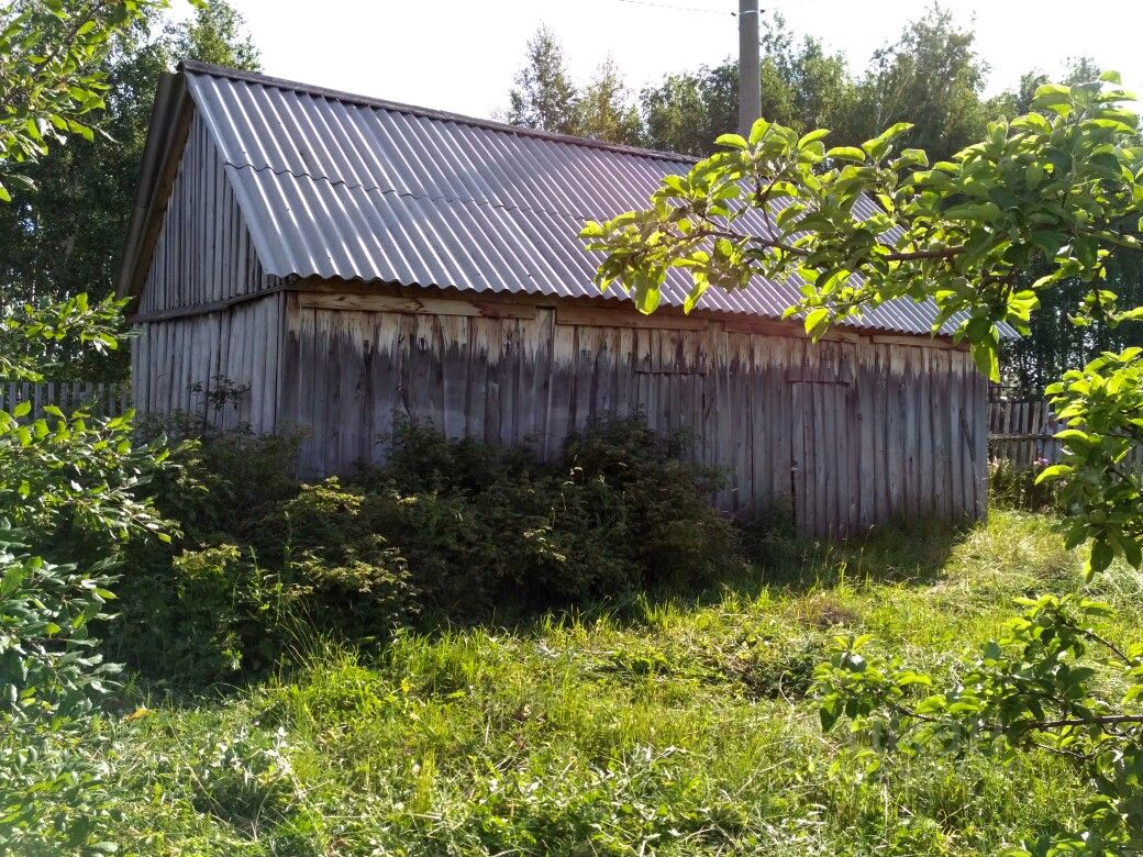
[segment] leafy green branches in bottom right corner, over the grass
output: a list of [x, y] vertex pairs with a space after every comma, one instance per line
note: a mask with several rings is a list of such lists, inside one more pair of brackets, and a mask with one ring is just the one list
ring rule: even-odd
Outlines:
[[[974, 752], [1001, 760], [1032, 750], [1055, 753], [1092, 783], [1084, 830], [1029, 840], [1010, 852], [1135, 852], [1143, 841], [1143, 646], [1120, 649], [1103, 636], [1108, 604], [1076, 595], [1017, 602], [1024, 611], [1005, 635], [944, 688], [868, 656], [866, 636], [838, 638], [832, 660], [815, 673], [822, 726], [829, 730], [848, 718], [850, 729], [871, 742], [858, 753], [870, 771], [885, 753]], [[1109, 686], [1119, 692], [1109, 694]]]

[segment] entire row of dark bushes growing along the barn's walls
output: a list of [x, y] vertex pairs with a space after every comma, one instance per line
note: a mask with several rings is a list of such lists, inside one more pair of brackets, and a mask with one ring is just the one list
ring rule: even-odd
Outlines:
[[684, 441], [614, 421], [543, 463], [406, 424], [387, 465], [318, 484], [290, 480], [296, 439], [191, 444], [159, 497], [183, 543], [134, 548], [117, 656], [209, 681], [271, 666], [304, 628], [383, 641], [422, 609], [466, 622], [702, 586], [742, 560], [710, 503], [720, 474], [681, 460]]

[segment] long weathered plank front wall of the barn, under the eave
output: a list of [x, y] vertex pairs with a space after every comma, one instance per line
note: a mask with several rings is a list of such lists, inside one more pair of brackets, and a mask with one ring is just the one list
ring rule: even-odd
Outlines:
[[965, 352], [919, 337], [814, 345], [623, 312], [289, 302], [280, 416], [312, 431], [310, 475], [382, 460], [400, 416], [552, 456], [569, 431], [641, 411], [729, 470], [717, 500], [735, 513], [789, 504], [804, 531], [828, 535], [985, 511], [986, 383]]

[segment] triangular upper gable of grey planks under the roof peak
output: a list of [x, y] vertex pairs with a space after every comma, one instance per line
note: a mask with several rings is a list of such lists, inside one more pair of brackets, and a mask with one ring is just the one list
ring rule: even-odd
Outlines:
[[195, 114], [137, 311], [210, 304], [266, 285], [218, 149]]

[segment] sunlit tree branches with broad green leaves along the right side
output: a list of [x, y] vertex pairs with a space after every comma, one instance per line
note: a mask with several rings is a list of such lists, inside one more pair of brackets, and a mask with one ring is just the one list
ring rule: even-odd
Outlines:
[[[826, 150], [805, 135], [756, 122], [685, 176], [666, 176], [648, 208], [588, 223], [604, 254], [601, 289], [615, 286], [652, 312], [666, 272], [692, 278], [687, 309], [709, 288], [749, 288], [756, 277], [807, 283], [789, 314], [820, 338], [831, 325], [893, 298], [932, 299], [934, 333], [958, 314], [956, 338], [999, 379], [1000, 322], [1028, 335], [1041, 296], [1084, 285], [1071, 307], [1080, 327], [1143, 320], [1109, 280], [1117, 251], [1143, 251], [1143, 146], [1133, 96], [1116, 74], [1044, 85], [1032, 112], [990, 122], [980, 142], [932, 166], [897, 149], [898, 122], [858, 146]], [[880, 210], [853, 215], [860, 198]], [[777, 205], [781, 203], [781, 205]], [[743, 216], [761, 217], [750, 231]], [[1086, 577], [1117, 558], [1143, 567], [1143, 475], [1125, 466], [1143, 444], [1143, 350], [1105, 352], [1048, 387], [1066, 425], [1057, 480], [1068, 546], [1090, 546]], [[895, 752], [1057, 753], [1092, 784], [1085, 827], [1032, 839], [1024, 854], [1116, 855], [1143, 848], [1143, 644], [1101, 634], [1108, 608], [1081, 596], [1021, 602], [1023, 612], [954, 681], [874, 659], [842, 639], [817, 673], [822, 723], [842, 718], [876, 761]], [[1109, 690], [1111, 688], [1111, 690]], [[882, 756], [877, 755], [880, 750]], [[874, 766], [876, 767], [876, 766]]]

